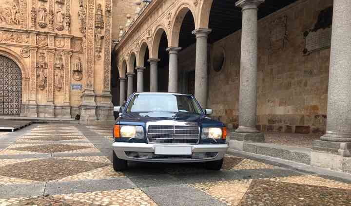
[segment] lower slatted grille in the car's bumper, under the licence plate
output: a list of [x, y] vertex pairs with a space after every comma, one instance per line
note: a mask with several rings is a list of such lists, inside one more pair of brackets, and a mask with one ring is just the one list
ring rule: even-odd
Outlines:
[[196, 152], [190, 155], [164, 155], [155, 154], [153, 152], [138, 152], [138, 151], [125, 151], [129, 158], [138, 159], [162, 159], [162, 160], [187, 160], [187, 159], [212, 159], [215, 158], [218, 152]]

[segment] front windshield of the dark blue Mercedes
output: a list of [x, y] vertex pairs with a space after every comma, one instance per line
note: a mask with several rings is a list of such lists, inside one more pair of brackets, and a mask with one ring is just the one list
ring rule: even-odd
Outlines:
[[127, 112], [186, 112], [201, 114], [191, 96], [180, 94], [135, 94]]

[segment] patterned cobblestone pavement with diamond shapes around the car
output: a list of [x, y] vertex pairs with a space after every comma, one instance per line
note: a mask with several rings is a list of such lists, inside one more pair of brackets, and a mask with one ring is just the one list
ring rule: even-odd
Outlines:
[[340, 179], [246, 156], [221, 171], [131, 162], [115, 172], [112, 127], [35, 124], [0, 133], [0, 206], [351, 206]]

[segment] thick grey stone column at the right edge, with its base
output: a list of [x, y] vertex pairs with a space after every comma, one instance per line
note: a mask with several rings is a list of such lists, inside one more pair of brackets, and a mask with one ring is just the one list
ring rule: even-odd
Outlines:
[[351, 1], [333, 1], [327, 132], [313, 150], [351, 156]]

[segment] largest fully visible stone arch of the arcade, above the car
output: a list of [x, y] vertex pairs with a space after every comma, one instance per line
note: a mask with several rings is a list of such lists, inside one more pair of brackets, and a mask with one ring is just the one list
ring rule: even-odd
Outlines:
[[173, 47], [177, 47], [179, 46], [179, 33], [180, 33], [180, 28], [181, 28], [181, 25], [183, 23], [183, 20], [185, 18], [185, 15], [188, 13], [188, 12], [191, 12], [191, 14], [193, 15], [193, 18], [194, 18], [194, 25], [196, 25], [196, 16], [195, 16], [195, 12], [194, 12], [194, 9], [189, 5], [189, 4], [181, 4], [177, 10], [176, 10], [176, 15], [173, 19], [173, 22], [172, 22], [172, 30], [171, 30], [171, 46]]

